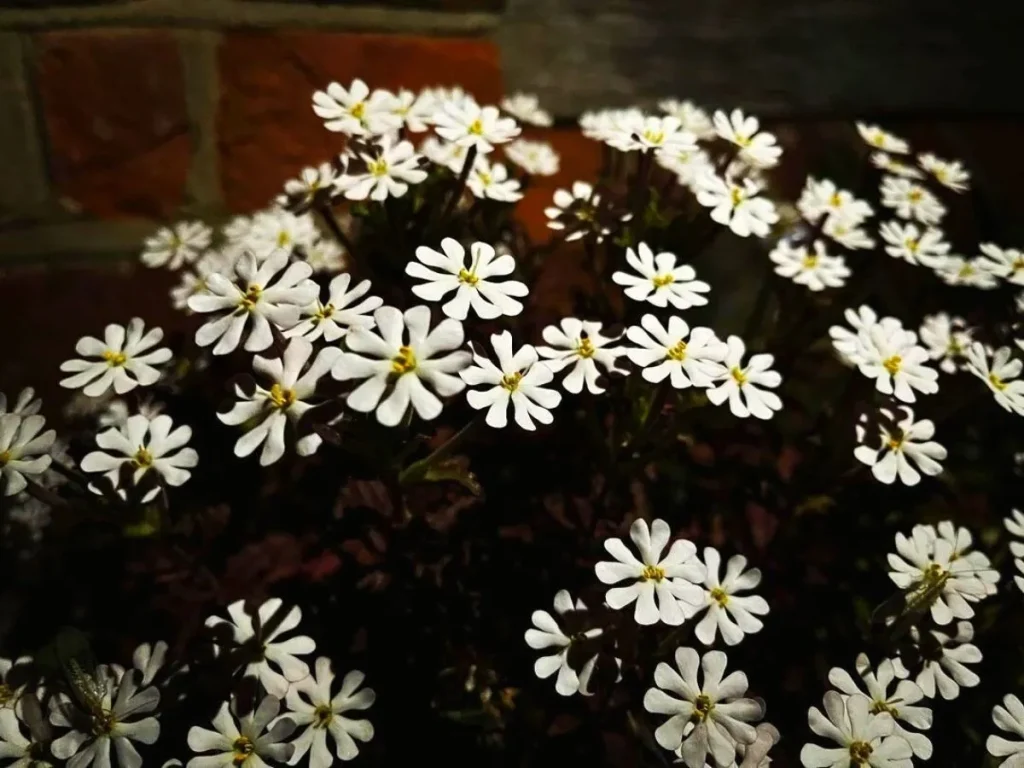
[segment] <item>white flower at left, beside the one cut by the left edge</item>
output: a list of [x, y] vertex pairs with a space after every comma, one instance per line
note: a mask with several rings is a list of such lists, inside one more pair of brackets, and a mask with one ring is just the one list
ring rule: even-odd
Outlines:
[[[96, 435], [96, 445], [102, 451], [86, 454], [82, 470], [102, 472], [115, 488], [120, 487], [121, 467], [125, 464], [133, 467], [131, 475], [135, 485], [151, 469], [168, 485], [182, 485], [191, 476], [188, 470], [199, 463], [199, 454], [195, 449], [185, 447], [191, 439], [191, 427], [184, 425], [172, 431], [172, 426], [169, 416], [152, 420], [141, 414], [129, 416], [124, 426]], [[92, 485], [89, 487], [100, 493]], [[146, 492], [142, 502], [152, 501], [159, 493], [160, 487], [154, 486]], [[123, 489], [120, 494], [122, 498], [127, 497]]]

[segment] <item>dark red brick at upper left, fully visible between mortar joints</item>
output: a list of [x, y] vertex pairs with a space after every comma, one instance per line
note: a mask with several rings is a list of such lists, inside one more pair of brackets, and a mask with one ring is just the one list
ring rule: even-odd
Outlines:
[[170, 33], [44, 33], [39, 93], [54, 185], [86, 213], [168, 215], [181, 205], [189, 138]]

